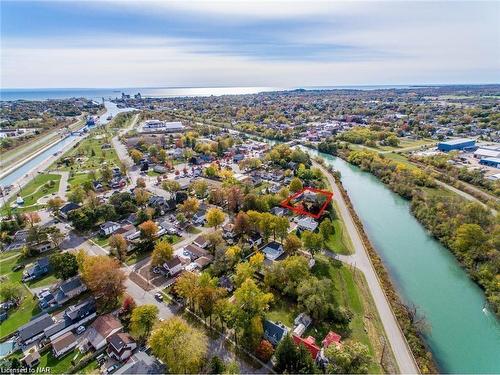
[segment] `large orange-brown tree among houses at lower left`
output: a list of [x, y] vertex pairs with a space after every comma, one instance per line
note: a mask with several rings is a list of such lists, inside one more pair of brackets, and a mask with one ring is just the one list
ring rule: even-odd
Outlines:
[[106, 255], [86, 256], [81, 273], [83, 281], [101, 299], [103, 306], [116, 305], [125, 290], [124, 282], [127, 278], [116, 259]]

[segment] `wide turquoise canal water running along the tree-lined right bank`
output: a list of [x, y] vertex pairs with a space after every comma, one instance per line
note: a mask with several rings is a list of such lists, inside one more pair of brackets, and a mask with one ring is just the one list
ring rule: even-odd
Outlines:
[[340, 171], [366, 232], [398, 292], [430, 325], [426, 341], [446, 373], [500, 373], [500, 322], [453, 255], [412, 216], [409, 202], [340, 158]]

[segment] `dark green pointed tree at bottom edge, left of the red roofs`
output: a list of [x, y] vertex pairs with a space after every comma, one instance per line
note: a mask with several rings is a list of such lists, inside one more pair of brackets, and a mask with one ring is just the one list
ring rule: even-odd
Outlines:
[[297, 346], [290, 335], [286, 335], [274, 352], [274, 370], [280, 374], [314, 374], [315, 365], [304, 345]]

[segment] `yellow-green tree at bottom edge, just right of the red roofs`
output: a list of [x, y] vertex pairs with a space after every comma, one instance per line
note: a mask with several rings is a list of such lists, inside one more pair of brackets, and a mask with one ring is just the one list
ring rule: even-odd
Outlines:
[[367, 374], [371, 357], [368, 348], [359, 342], [345, 342], [340, 346], [330, 345], [325, 350], [330, 374]]

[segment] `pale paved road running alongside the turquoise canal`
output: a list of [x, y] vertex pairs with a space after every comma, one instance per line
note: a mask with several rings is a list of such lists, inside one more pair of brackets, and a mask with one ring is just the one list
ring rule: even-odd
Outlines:
[[354, 220], [347, 208], [347, 204], [344, 201], [342, 194], [340, 193], [339, 187], [337, 186], [332, 175], [326, 170], [325, 167], [319, 163], [313, 162], [314, 166], [320, 168], [328, 178], [328, 182], [332, 186], [334, 199], [337, 202], [339, 208], [339, 214], [344, 219], [344, 223], [349, 233], [353, 246], [354, 254], [349, 256], [338, 256], [343, 262], [351, 264], [361, 270], [364, 273], [368, 287], [375, 301], [375, 305], [380, 315], [382, 324], [384, 325], [385, 333], [389, 340], [389, 343], [396, 358], [399, 370], [404, 374], [416, 374], [419, 373], [418, 367], [415, 364], [413, 354], [411, 353], [406, 339], [399, 328], [399, 324], [396, 317], [392, 313], [389, 301], [387, 300], [382, 286], [379, 283], [375, 270], [372, 266], [368, 253], [364, 247], [361, 236], [354, 224]]

